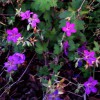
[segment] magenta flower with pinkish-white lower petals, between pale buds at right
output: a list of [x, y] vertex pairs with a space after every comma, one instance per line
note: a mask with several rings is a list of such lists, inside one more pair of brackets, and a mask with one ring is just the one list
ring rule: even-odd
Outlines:
[[88, 50], [84, 50], [84, 57], [83, 57], [83, 59], [90, 66], [96, 61], [96, 58], [94, 56], [95, 56], [95, 52], [94, 51], [89, 52]]

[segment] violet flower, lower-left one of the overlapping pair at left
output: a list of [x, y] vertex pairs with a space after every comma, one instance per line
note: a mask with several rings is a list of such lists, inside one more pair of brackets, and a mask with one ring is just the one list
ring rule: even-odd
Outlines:
[[9, 56], [8, 61], [4, 63], [4, 67], [7, 68], [7, 72], [9, 73], [13, 70], [17, 70], [16, 62], [12, 56]]

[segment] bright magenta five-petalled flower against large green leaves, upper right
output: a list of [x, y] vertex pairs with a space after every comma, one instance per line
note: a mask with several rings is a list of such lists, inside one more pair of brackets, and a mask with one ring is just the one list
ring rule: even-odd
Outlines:
[[66, 22], [66, 25], [62, 28], [62, 30], [68, 37], [71, 36], [72, 33], [76, 33], [75, 24], [71, 24], [70, 22]]

